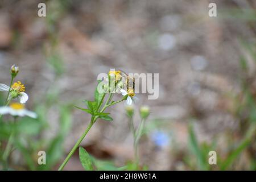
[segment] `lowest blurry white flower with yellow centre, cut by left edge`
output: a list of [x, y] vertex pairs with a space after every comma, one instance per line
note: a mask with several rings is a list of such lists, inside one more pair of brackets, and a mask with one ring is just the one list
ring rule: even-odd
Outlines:
[[0, 107], [0, 114], [3, 114], [3, 115], [10, 114], [10, 115], [19, 116], [19, 117], [28, 116], [31, 118], [38, 117], [36, 113], [25, 109], [24, 105], [19, 103], [13, 103], [13, 104], [10, 104], [10, 106]]

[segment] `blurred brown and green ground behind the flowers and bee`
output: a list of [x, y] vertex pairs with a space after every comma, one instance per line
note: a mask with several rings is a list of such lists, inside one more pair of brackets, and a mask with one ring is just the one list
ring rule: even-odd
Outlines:
[[[46, 17], [38, 3], [46, 3]], [[208, 5], [217, 5], [217, 17]], [[53, 0], [0, 2], [0, 82], [11, 65], [26, 85], [27, 108], [39, 118], [20, 119], [18, 170], [57, 169], [89, 123], [75, 109], [93, 100], [99, 73], [159, 73], [159, 98], [137, 94], [150, 107], [139, 145], [150, 170], [256, 169], [256, 1]], [[1, 105], [5, 94], [0, 93]], [[99, 169], [134, 160], [125, 102], [97, 121], [82, 142]], [[10, 125], [1, 122], [1, 146]], [[38, 151], [47, 165], [37, 164]], [[208, 152], [217, 152], [217, 165]], [[129, 166], [129, 165], [127, 165]], [[83, 169], [78, 152], [65, 167]]]

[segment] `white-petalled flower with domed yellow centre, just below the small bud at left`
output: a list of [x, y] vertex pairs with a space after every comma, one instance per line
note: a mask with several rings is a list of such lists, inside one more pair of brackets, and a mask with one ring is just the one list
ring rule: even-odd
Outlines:
[[[8, 92], [9, 86], [0, 84], [0, 92]], [[25, 104], [28, 100], [28, 95], [25, 93], [25, 86], [20, 82], [14, 82], [10, 89], [10, 98], [20, 98], [20, 103]], [[9, 98], [9, 99], [10, 99]]]

